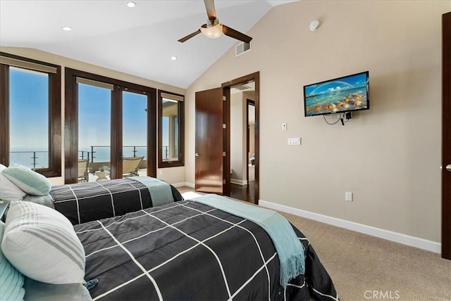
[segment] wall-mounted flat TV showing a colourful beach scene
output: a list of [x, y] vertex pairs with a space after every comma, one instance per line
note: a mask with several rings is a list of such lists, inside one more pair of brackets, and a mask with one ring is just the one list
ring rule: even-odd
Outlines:
[[368, 109], [368, 71], [304, 86], [306, 117]]

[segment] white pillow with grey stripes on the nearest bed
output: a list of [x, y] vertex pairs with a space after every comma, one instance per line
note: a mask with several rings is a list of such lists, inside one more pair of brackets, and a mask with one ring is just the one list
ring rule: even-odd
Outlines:
[[1, 249], [22, 274], [52, 284], [85, 283], [85, 250], [60, 212], [11, 202]]

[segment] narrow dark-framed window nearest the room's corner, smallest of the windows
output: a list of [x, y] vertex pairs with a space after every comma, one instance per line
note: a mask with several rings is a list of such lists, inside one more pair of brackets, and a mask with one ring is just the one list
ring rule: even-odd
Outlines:
[[185, 165], [184, 97], [159, 91], [159, 168]]

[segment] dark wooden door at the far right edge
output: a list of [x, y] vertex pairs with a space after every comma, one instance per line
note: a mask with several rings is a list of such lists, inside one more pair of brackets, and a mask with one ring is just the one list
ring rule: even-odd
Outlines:
[[442, 257], [451, 260], [451, 13], [442, 20]]

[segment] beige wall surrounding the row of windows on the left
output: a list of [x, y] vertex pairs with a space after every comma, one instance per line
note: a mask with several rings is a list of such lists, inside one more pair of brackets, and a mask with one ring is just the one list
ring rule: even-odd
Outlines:
[[[185, 94], [185, 89], [180, 89], [177, 87], [169, 86], [167, 84], [161, 84], [159, 82], [154, 82], [149, 79], [144, 79], [142, 77], [136, 77], [133, 75], [128, 75], [123, 72], [118, 72], [115, 70], [110, 70], [106, 68], [101, 68], [97, 65], [92, 65], [88, 63], [80, 62], [79, 60], [72, 60], [70, 58], [65, 58], [63, 56], [56, 56], [53, 53], [48, 53], [44, 51], [39, 51], [36, 49], [28, 49], [28, 48], [15, 48], [15, 47], [0, 47], [0, 51], [16, 54], [17, 56], [23, 56], [25, 58], [33, 58], [35, 60], [41, 60], [43, 62], [47, 63], [53, 63], [55, 65], [61, 65], [62, 69], [62, 79], [61, 79], [61, 115], [62, 115], [62, 129], [64, 128], [64, 68], [73, 68], [77, 70], [82, 70], [86, 72], [91, 72], [97, 75], [102, 75], [105, 77], [111, 77], [114, 79], [121, 79], [125, 82], [132, 82], [135, 84], [141, 84], [143, 86], [152, 87], [155, 89], [162, 89], [165, 91], [174, 92], [177, 94]], [[62, 133], [64, 135], [64, 131]], [[64, 139], [63, 139], [64, 140]], [[64, 145], [63, 148], [63, 154], [64, 154]], [[62, 166], [64, 168], [64, 158], [62, 159]], [[185, 167], [174, 167], [171, 168], [174, 170], [168, 170], [168, 168], [165, 168], [163, 173], [158, 172], [158, 176], [160, 179], [164, 179], [166, 181], [169, 181], [170, 183], [180, 183], [185, 182]], [[62, 172], [64, 177], [64, 172]], [[64, 184], [63, 177], [57, 177], [57, 178], [51, 178], [50, 181], [54, 185], [58, 184]]]

